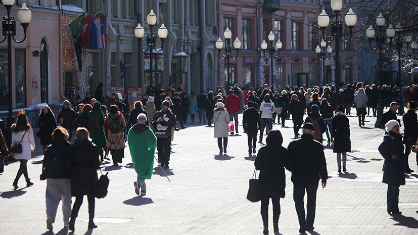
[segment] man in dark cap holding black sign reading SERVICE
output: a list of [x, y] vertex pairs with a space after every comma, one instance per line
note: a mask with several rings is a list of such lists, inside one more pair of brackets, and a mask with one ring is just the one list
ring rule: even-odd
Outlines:
[[170, 107], [170, 102], [163, 101], [162, 109], [155, 113], [152, 122], [154, 134], [157, 137], [158, 162], [166, 169], [170, 161], [171, 128], [175, 126], [174, 114], [168, 107]]

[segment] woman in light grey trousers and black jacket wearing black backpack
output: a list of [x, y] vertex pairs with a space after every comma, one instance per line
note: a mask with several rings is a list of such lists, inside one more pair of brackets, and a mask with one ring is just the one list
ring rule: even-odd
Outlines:
[[65, 158], [71, 144], [67, 142], [68, 131], [59, 126], [52, 133], [52, 144], [45, 150], [42, 161], [42, 175], [47, 178], [47, 229], [52, 231], [58, 204], [62, 201], [64, 227], [70, 226], [71, 216], [71, 172], [65, 167]]

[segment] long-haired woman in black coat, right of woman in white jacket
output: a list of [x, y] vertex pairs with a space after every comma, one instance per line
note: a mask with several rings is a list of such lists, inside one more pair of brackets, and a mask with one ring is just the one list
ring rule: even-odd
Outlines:
[[39, 134], [37, 135], [40, 138], [40, 145], [42, 146], [43, 154], [45, 154], [45, 150], [49, 145], [51, 145], [52, 132], [54, 132], [54, 129], [57, 128], [55, 115], [48, 105], [43, 106], [39, 112], [38, 127]]

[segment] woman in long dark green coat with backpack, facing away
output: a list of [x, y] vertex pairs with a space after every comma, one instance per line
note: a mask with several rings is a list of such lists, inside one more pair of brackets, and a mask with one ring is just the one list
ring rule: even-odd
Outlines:
[[103, 150], [106, 152], [106, 135], [105, 135], [105, 116], [102, 112], [102, 105], [96, 101], [93, 109], [88, 113], [88, 130], [90, 132], [91, 141], [100, 150], [100, 161], [103, 161]]

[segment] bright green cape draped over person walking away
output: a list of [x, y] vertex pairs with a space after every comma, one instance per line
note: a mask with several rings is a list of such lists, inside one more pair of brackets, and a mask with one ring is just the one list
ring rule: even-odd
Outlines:
[[145, 124], [135, 124], [128, 131], [128, 145], [137, 178], [151, 179], [157, 137]]

